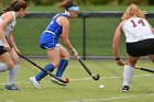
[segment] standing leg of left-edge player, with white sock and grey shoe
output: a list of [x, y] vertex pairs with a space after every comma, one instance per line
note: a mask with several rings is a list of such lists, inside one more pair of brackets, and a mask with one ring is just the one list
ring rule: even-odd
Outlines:
[[9, 76], [8, 76], [8, 82], [4, 86], [7, 90], [22, 90], [21, 88], [18, 88], [14, 83], [15, 76], [18, 73], [18, 68], [19, 68], [19, 56], [16, 52], [12, 48], [9, 50], [9, 54], [13, 60], [13, 67], [9, 70]]

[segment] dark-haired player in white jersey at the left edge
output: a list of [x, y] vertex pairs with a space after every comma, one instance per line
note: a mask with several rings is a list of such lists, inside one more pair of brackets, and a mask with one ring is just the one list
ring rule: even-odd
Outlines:
[[[9, 70], [7, 90], [22, 90], [14, 84], [14, 78], [19, 67], [19, 52], [13, 39], [12, 31], [15, 26], [15, 18], [23, 18], [26, 13], [26, 2], [16, 0], [10, 4], [0, 16], [0, 72]], [[16, 52], [15, 52], [16, 50]]]

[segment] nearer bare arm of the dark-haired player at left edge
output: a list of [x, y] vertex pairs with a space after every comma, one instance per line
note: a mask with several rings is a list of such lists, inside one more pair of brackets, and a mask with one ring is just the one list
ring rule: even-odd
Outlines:
[[8, 50], [10, 49], [10, 46], [9, 46], [7, 39], [6, 39], [6, 36], [4, 36], [4, 34], [3, 34], [3, 30], [6, 29], [6, 26], [7, 26], [8, 24], [10, 24], [10, 22], [12, 22], [12, 20], [13, 20], [13, 15], [12, 15], [10, 12], [8, 12], [8, 13], [6, 13], [6, 14], [2, 15], [2, 23], [1, 23], [1, 25], [0, 25], [0, 38], [1, 38], [1, 41], [2, 41], [2, 43], [3, 43], [3, 45], [4, 45], [4, 47], [6, 47]]

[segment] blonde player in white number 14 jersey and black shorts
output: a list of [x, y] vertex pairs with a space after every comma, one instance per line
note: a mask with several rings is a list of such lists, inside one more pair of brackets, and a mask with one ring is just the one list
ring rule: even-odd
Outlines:
[[[131, 4], [128, 7], [122, 16], [122, 22], [118, 25], [113, 38], [113, 54], [117, 64], [124, 66], [123, 69], [123, 87], [121, 92], [130, 89], [130, 82], [133, 76], [133, 67], [141, 56], [148, 56], [154, 63], [154, 30], [144, 19], [145, 13], [141, 9]], [[119, 45], [122, 35], [125, 35], [128, 60], [127, 65], [122, 63], [119, 54]]]

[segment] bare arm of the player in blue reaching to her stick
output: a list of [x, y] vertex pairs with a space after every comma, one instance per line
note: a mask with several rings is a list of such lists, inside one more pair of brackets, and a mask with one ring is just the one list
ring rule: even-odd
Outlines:
[[61, 24], [63, 26], [62, 39], [63, 39], [64, 44], [67, 46], [67, 48], [74, 54], [74, 56], [78, 56], [78, 53], [76, 52], [76, 49], [73, 47], [73, 45], [69, 42], [69, 36], [68, 36], [69, 21], [65, 16], [62, 16], [61, 19], [62, 19]]

